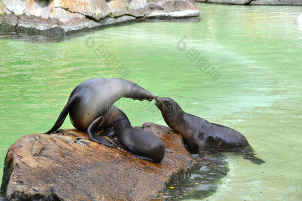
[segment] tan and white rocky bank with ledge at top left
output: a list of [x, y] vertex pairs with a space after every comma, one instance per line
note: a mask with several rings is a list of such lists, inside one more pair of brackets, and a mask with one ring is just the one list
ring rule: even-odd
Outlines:
[[0, 0], [0, 29], [65, 35], [142, 17], [192, 17], [194, 0]]

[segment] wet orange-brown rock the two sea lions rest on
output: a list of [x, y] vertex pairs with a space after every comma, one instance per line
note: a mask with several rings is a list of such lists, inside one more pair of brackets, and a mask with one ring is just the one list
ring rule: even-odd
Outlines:
[[145, 200], [199, 168], [179, 134], [152, 123], [141, 128], [164, 142], [161, 163], [100, 145], [76, 130], [22, 136], [7, 151], [1, 191], [7, 200]]

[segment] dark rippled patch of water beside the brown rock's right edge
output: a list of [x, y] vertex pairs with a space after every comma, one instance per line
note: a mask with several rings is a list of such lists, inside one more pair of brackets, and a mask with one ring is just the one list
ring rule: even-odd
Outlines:
[[193, 157], [199, 162], [200, 167], [192, 172], [189, 178], [168, 183], [167, 191], [163, 195], [150, 196], [148, 199], [165, 201], [201, 199], [214, 194], [221, 178], [229, 171], [225, 156], [217, 151], [206, 151], [200, 155], [193, 154]]

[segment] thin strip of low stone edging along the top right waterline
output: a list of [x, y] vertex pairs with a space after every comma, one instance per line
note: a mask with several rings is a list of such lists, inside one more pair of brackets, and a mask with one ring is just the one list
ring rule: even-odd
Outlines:
[[236, 5], [302, 5], [302, 0], [195, 0], [204, 3], [222, 3]]

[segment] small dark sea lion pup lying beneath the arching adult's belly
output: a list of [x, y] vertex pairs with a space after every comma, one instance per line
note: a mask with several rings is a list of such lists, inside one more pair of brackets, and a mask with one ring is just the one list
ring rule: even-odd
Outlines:
[[[103, 116], [97, 129], [105, 130], [101, 133], [111, 139], [117, 138], [120, 143], [133, 156], [151, 162], [160, 163], [164, 156], [165, 147], [163, 142], [154, 134], [131, 126], [131, 123], [120, 109], [115, 105]], [[99, 136], [96, 136], [98, 138]], [[101, 136], [102, 137], [102, 136]]]

